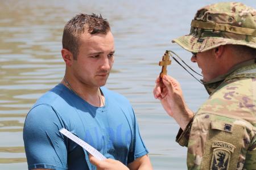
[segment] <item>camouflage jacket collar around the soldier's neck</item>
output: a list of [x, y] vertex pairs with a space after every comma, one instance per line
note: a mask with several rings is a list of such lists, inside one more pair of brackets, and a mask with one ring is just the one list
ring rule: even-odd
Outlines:
[[250, 59], [248, 61], [239, 63], [230, 69], [228, 73], [220, 75], [210, 82], [204, 82], [203, 80], [201, 81], [203, 82], [208, 94], [211, 95], [221, 83], [237, 77], [256, 77], [256, 59]]

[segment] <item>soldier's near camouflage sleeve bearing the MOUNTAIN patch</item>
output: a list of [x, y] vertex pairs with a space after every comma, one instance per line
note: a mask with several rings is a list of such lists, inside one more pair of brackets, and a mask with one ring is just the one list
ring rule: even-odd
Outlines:
[[189, 133], [188, 169], [253, 169], [255, 156], [255, 128], [249, 122], [210, 113], [195, 116]]

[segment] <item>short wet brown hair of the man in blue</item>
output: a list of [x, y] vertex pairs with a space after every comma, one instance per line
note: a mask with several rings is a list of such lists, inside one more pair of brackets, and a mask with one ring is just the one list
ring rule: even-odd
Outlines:
[[88, 32], [93, 35], [96, 33], [106, 34], [109, 31], [109, 22], [101, 15], [79, 14], [65, 24], [62, 46], [73, 54], [74, 59], [77, 59], [82, 33]]

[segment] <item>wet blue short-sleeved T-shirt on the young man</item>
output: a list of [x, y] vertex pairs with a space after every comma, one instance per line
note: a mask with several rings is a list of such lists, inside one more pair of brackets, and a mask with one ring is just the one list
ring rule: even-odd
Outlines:
[[28, 169], [96, 169], [88, 153], [59, 130], [65, 128], [106, 158], [123, 164], [148, 153], [129, 101], [105, 87], [104, 107], [94, 107], [63, 84], [44, 94], [27, 114], [23, 139]]

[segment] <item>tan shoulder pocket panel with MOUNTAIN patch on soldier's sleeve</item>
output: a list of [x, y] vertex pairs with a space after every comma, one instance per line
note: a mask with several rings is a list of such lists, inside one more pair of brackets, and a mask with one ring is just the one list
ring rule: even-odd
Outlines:
[[210, 122], [201, 169], [236, 169], [245, 131], [242, 125]]

